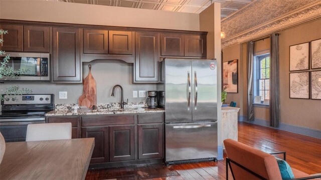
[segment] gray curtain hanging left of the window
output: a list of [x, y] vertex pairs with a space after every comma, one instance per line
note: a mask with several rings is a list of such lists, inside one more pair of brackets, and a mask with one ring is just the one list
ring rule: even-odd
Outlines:
[[254, 120], [253, 109], [253, 56], [254, 42], [247, 42], [247, 120]]

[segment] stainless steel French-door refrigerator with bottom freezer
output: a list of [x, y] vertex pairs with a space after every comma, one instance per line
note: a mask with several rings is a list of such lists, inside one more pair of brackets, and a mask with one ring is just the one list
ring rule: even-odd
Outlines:
[[165, 59], [166, 163], [216, 159], [216, 60]]

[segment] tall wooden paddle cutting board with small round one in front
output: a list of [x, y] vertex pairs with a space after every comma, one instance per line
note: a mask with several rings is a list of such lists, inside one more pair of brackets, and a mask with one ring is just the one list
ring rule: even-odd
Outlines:
[[83, 94], [79, 97], [79, 105], [85, 105], [92, 108], [93, 105], [97, 106], [97, 95], [96, 95], [96, 80], [91, 74], [91, 65], [89, 64], [89, 73], [84, 78]]

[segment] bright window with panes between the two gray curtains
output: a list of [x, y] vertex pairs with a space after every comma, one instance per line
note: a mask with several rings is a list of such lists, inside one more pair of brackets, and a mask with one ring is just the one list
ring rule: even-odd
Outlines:
[[270, 98], [270, 54], [256, 56], [253, 77], [254, 95], [261, 96], [261, 103], [263, 103], [264, 99]]

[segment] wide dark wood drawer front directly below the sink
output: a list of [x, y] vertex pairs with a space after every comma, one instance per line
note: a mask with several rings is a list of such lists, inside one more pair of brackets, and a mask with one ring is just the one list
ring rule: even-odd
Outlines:
[[82, 126], [134, 124], [135, 115], [82, 116]]

